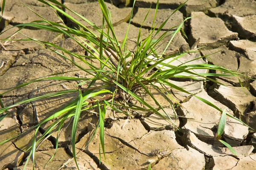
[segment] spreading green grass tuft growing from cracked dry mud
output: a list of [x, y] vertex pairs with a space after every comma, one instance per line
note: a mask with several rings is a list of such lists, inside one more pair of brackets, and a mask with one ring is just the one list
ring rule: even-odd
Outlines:
[[[41, 44], [42, 46], [48, 48], [49, 50], [55, 52], [60, 57], [63, 57], [64, 59], [67, 59], [70, 61], [74, 67], [76, 67], [78, 70], [84, 71], [88, 77], [64, 77], [60, 76], [62, 73], [52, 74], [48, 77], [40, 77], [38, 79], [30, 80], [29, 82], [24, 82], [22, 85], [19, 85], [15, 88], [12, 88], [9, 91], [13, 91], [17, 88], [24, 87], [26, 85], [29, 85], [34, 82], [44, 81], [44, 80], [61, 80], [61, 81], [76, 81], [79, 80], [81, 83], [79, 85], [82, 85], [87, 82], [90, 82], [90, 84], [87, 86], [87, 88], [79, 89], [79, 90], [67, 90], [67, 91], [61, 91], [56, 93], [49, 93], [45, 95], [41, 95], [35, 98], [27, 99], [21, 102], [18, 102], [14, 105], [10, 105], [5, 107], [3, 105], [2, 100], [0, 99], [0, 121], [3, 120], [4, 117], [8, 115], [8, 113], [16, 108], [19, 105], [23, 105], [32, 101], [36, 101], [38, 99], [47, 99], [51, 97], [61, 96], [63, 94], [68, 93], [77, 93], [78, 97], [73, 100], [72, 102], [68, 103], [64, 108], [62, 108], [60, 111], [57, 111], [56, 113], [53, 113], [51, 116], [49, 116], [47, 119], [44, 119], [43, 121], [39, 122], [37, 125], [29, 128], [36, 128], [35, 136], [33, 138], [33, 144], [30, 147], [31, 151], [28, 156], [28, 159], [26, 161], [25, 167], [28, 164], [30, 156], [32, 156], [33, 164], [35, 164], [35, 151], [37, 150], [38, 144], [48, 138], [52, 135], [54, 132], [54, 127], [57, 128], [57, 137], [56, 137], [56, 152], [58, 149], [58, 134], [61, 130], [61, 127], [64, 124], [64, 121], [70, 117], [73, 117], [73, 127], [72, 127], [72, 151], [73, 151], [73, 157], [76, 162], [76, 166], [79, 169], [79, 165], [76, 161], [76, 130], [78, 127], [78, 122], [80, 118], [81, 111], [90, 111], [93, 108], [98, 108], [99, 110], [99, 121], [96, 125], [96, 129], [93, 132], [93, 136], [95, 136], [96, 131], [99, 129], [100, 134], [100, 148], [103, 151], [104, 157], [105, 156], [105, 148], [104, 148], [104, 121], [105, 121], [105, 114], [106, 114], [106, 106], [110, 107], [113, 111], [125, 113], [125, 115], [133, 117], [131, 113], [136, 113], [139, 111], [145, 111], [145, 112], [151, 112], [156, 113], [159, 116], [167, 119], [170, 124], [175, 125], [175, 122], [172, 122], [172, 119], [170, 119], [170, 115], [165, 113], [163, 107], [160, 105], [160, 103], [157, 101], [156, 96], [152, 94], [148, 90], [148, 86], [153, 87], [155, 90], [159, 91], [160, 94], [166, 97], [166, 100], [169, 102], [169, 105], [174, 109], [175, 108], [175, 102], [173, 102], [171, 99], [169, 99], [169, 96], [171, 96], [167, 90], [162, 89], [168, 89], [168, 88], [174, 88], [179, 91], [185, 92], [186, 94], [190, 94], [192, 96], [197, 97], [202, 102], [206, 103], [209, 106], [212, 106], [213, 108], [217, 109], [218, 111], [222, 112], [221, 121], [218, 127], [218, 133], [217, 138], [220, 139], [222, 133], [224, 132], [225, 127], [225, 121], [226, 121], [226, 115], [232, 117], [233, 119], [238, 120], [239, 122], [243, 123], [241, 120], [233, 117], [232, 115], [225, 113], [225, 111], [222, 111], [220, 108], [218, 108], [216, 105], [213, 105], [211, 102], [202, 99], [194, 94], [189, 93], [188, 91], [184, 90], [183, 88], [178, 87], [177, 85], [172, 84], [168, 80], [171, 78], [179, 78], [179, 79], [193, 79], [193, 80], [200, 80], [200, 81], [212, 81], [216, 82], [213, 79], [210, 79], [209, 77], [214, 76], [220, 76], [220, 74], [200, 74], [196, 71], [199, 69], [206, 69], [206, 70], [214, 70], [214, 71], [220, 71], [225, 74], [221, 74], [221, 76], [236, 76], [238, 77], [244, 77], [242, 74], [237, 73], [236, 71], [230, 71], [226, 68], [222, 68], [216, 65], [209, 65], [209, 64], [197, 64], [197, 65], [189, 65], [189, 62], [180, 64], [180, 65], [172, 65], [172, 62], [175, 60], [178, 60], [180, 57], [183, 57], [184, 55], [188, 53], [195, 52], [198, 49], [195, 49], [194, 51], [187, 51], [180, 54], [173, 54], [173, 55], [166, 55], [165, 51], [172, 42], [175, 35], [181, 31], [184, 34], [184, 31], [181, 30], [184, 22], [186, 20], [189, 20], [189, 18], [186, 18], [183, 23], [180, 23], [179, 26], [177, 26], [176, 30], [170, 33], [170, 28], [168, 31], [165, 31], [158, 39], [155, 39], [155, 37], [160, 34], [161, 28], [165, 26], [169, 18], [174, 14], [179, 8], [181, 8], [185, 3], [180, 5], [169, 17], [166, 19], [163, 24], [159, 27], [159, 29], [156, 30], [156, 15], [157, 15], [157, 8], [158, 8], [158, 1], [157, 1], [157, 7], [155, 9], [155, 15], [152, 23], [152, 28], [150, 30], [149, 35], [146, 38], [142, 38], [141, 28], [138, 32], [137, 37], [137, 47], [135, 51], [129, 51], [127, 50], [127, 41], [128, 41], [128, 31], [131, 24], [131, 18], [132, 13], [134, 9], [135, 0], [133, 3], [133, 8], [131, 10], [131, 15], [128, 21], [128, 30], [125, 33], [125, 37], [123, 40], [118, 40], [114, 31], [114, 27], [111, 21], [111, 13], [108, 10], [104, 0], [98, 0], [99, 6], [101, 8], [101, 14], [102, 14], [102, 26], [99, 28], [95, 26], [92, 22], [87, 20], [85, 17], [81, 16], [80, 14], [76, 13], [76, 11], [73, 11], [70, 8], [67, 8], [61, 3], [58, 3], [56, 0], [38, 0], [41, 3], [46, 4], [47, 6], [51, 7], [56, 11], [56, 14], [61, 14], [62, 16], [66, 17], [68, 20], [75, 23], [78, 28], [68, 27], [65, 25], [64, 21], [61, 19], [61, 17], [58, 17], [62, 20], [63, 24], [55, 23], [49, 20], [46, 20], [44, 17], [37, 14], [35, 11], [33, 11], [31, 8], [29, 8], [31, 11], [35, 13], [38, 17], [41, 18], [40, 21], [35, 21], [32, 23], [24, 23], [24, 24], [18, 24], [14, 27], [18, 27], [19, 30], [17, 31], [20, 33], [20, 30], [26, 27], [32, 27], [42, 30], [47, 30], [51, 32], [56, 32], [58, 34], [63, 34], [70, 39], [72, 39], [74, 42], [77, 43], [84, 51], [87, 52], [87, 55], [81, 55], [77, 54], [76, 52], [68, 51], [64, 48], [61, 48], [60, 46], [53, 44], [51, 42], [46, 42], [43, 40], [36, 40], [33, 37], [28, 37], [26, 35], [26, 38], [20, 39], [18, 41], [25, 41], [30, 40], [34, 41], [38, 44]], [[4, 3], [5, 0], [3, 0], [3, 8], [4, 9]], [[61, 7], [61, 8], [58, 8]], [[76, 15], [77, 17], [80, 17], [82, 20], [87, 22], [90, 25], [90, 28], [85, 27], [81, 23], [79, 23], [78, 20], [73, 18], [71, 15], [67, 14], [65, 11], [70, 11], [72, 14]], [[2, 10], [2, 16], [3, 16], [3, 10]], [[148, 14], [146, 15], [146, 17]], [[145, 18], [146, 19], [146, 18]], [[144, 20], [145, 21], [145, 20]], [[6, 30], [8, 31], [8, 30]], [[5, 32], [5, 31], [4, 31]], [[3, 32], [3, 33], [4, 33]], [[3, 34], [2, 33], [2, 34]], [[20, 33], [21, 34], [21, 33]], [[99, 36], [97, 36], [99, 35]], [[168, 45], [165, 47], [162, 53], [157, 53], [156, 49], [159, 47], [160, 42], [166, 37], [166, 36], [172, 36], [172, 38], [169, 40]], [[5, 39], [9, 40], [9, 39]], [[12, 40], [9, 40], [12, 41]], [[16, 41], [16, 40], [15, 40]], [[121, 42], [121, 43], [120, 43]], [[70, 56], [76, 58], [79, 60], [79, 62], [75, 62], [70, 58]], [[99, 66], [92, 65], [89, 62], [87, 62], [87, 59], [92, 59], [97, 62], [99, 62]], [[199, 57], [198, 59], [200, 59]], [[167, 59], [172, 59], [171, 62], [166, 62]], [[192, 60], [191, 60], [192, 61]], [[83, 68], [79, 63], [86, 64], [88, 68]], [[68, 71], [69, 72], [69, 71]], [[70, 71], [71, 72], [71, 71]], [[67, 73], [67, 72], [65, 72]], [[101, 89], [95, 87], [95, 82], [102, 82], [104, 85]], [[218, 84], [221, 84], [219, 82], [216, 82]], [[158, 86], [156, 85], [158, 84]], [[111, 87], [111, 88], [109, 88]], [[111, 90], [110, 90], [111, 89]], [[141, 96], [138, 95], [137, 91], [143, 89], [145, 93], [151, 97], [151, 99], [155, 102], [157, 107], [151, 106], [147, 101], [142, 99]], [[0, 94], [0, 96], [8, 93], [9, 91], [6, 91], [3, 94]], [[120, 102], [116, 102], [117, 99]], [[139, 102], [143, 107], [134, 105], [131, 101], [136, 100]], [[93, 103], [96, 103], [96, 105], [92, 105]], [[120, 108], [124, 108], [121, 110]], [[163, 110], [165, 115], [160, 113], [160, 110]], [[174, 113], [176, 118], [176, 112], [174, 110]], [[42, 137], [38, 140], [36, 140], [36, 134], [40, 128], [41, 125], [43, 125], [46, 122], [49, 122], [50, 120], [56, 119], [50, 127], [44, 132]], [[244, 123], [243, 123], [244, 124]], [[244, 124], [245, 125], [245, 124]], [[176, 126], [176, 125], [175, 125]], [[178, 127], [177, 127], [178, 128]], [[17, 138], [19, 135], [7, 139], [3, 142], [0, 142], [0, 144], [9, 142], [15, 138]], [[91, 137], [90, 141], [93, 139], [93, 136]], [[232, 150], [232, 147], [228, 145], [226, 142], [219, 140], [222, 142], [225, 146], [227, 146], [230, 150]], [[55, 154], [56, 154], [55, 152]], [[99, 150], [99, 153], [101, 153], [101, 150]], [[235, 152], [233, 152], [236, 154]], [[55, 154], [49, 159], [52, 160]], [[49, 162], [48, 161], [48, 162]], [[100, 160], [101, 161], [101, 160]], [[48, 164], [47, 162], [47, 164]], [[45, 166], [47, 166], [47, 164]], [[24, 167], [24, 168], [25, 168]], [[35, 167], [34, 167], [35, 168]], [[47, 167], [45, 167], [47, 168]], [[148, 169], [151, 169], [151, 166], [149, 165]]]

